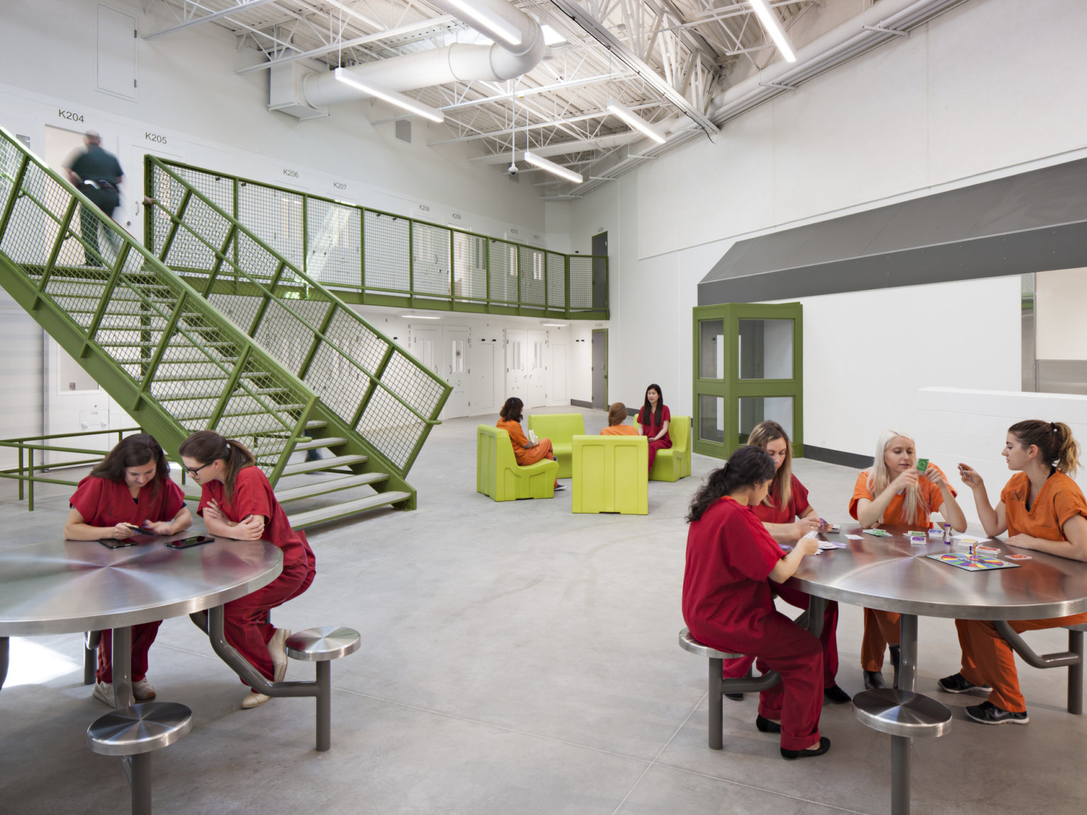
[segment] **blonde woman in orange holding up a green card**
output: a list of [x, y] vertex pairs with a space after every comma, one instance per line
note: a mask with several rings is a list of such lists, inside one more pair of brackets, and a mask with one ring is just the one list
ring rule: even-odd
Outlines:
[[[935, 464], [929, 463], [924, 473], [917, 472], [913, 439], [897, 430], [885, 430], [876, 442], [872, 469], [857, 477], [849, 514], [866, 529], [879, 524], [927, 529], [932, 526], [929, 516], [937, 512], [955, 530], [964, 532], [966, 516], [954, 497], [944, 471]], [[898, 619], [895, 612], [864, 610], [861, 667], [865, 688], [886, 687], [880, 670], [888, 644], [898, 685]]]

